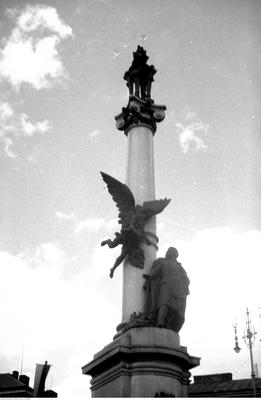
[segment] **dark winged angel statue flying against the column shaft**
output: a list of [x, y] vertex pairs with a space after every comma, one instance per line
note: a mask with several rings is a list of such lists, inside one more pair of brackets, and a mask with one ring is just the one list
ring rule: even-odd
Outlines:
[[121, 225], [121, 231], [115, 233], [113, 240], [108, 239], [101, 243], [101, 246], [107, 244], [110, 248], [122, 245], [121, 254], [110, 270], [112, 278], [115, 269], [126, 257], [134, 267], [144, 267], [144, 252], [140, 245], [142, 242], [152, 245], [153, 241], [150, 237], [155, 237], [151, 232], [144, 231], [145, 224], [153, 215], [163, 211], [170, 199], [145, 201], [142, 206], [135, 205], [134, 196], [127, 185], [104, 172], [101, 172], [101, 175], [119, 209], [118, 222]]

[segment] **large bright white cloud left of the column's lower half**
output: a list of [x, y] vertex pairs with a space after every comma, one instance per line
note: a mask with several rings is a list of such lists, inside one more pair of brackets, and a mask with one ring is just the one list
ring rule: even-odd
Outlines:
[[105, 287], [114, 287], [116, 280], [111, 282], [106, 269], [97, 269], [91, 257], [89, 267], [69, 281], [63, 274], [67, 262], [57, 243], [43, 243], [16, 256], [0, 252], [0, 301], [5, 304], [0, 310], [0, 361], [7, 358], [10, 371], [16, 369], [24, 348], [24, 373], [33, 376], [35, 363], [48, 360], [59, 396], [68, 388], [74, 391], [75, 380], [82, 382], [86, 396], [89, 379], [81, 375], [81, 367], [112, 340], [119, 322], [108, 289], [97, 297], [97, 285], [104, 281]]

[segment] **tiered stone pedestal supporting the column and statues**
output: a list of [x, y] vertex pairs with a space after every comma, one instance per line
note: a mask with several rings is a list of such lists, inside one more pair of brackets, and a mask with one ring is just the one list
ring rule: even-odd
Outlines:
[[191, 368], [199, 358], [168, 329], [129, 329], [82, 368], [91, 375], [92, 397], [187, 397]]

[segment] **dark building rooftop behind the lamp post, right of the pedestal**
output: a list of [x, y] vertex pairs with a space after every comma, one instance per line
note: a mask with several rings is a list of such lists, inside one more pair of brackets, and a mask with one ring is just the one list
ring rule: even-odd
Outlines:
[[[261, 378], [256, 378], [256, 395], [261, 397]], [[253, 397], [252, 380], [233, 380], [231, 373], [194, 376], [189, 397]]]

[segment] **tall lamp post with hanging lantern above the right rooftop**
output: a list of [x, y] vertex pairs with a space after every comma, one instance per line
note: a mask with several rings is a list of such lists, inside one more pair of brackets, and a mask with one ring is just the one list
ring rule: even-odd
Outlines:
[[[238, 337], [237, 337], [237, 325], [234, 325], [234, 330], [235, 330], [235, 347], [234, 351], [236, 353], [239, 353], [241, 348], [238, 345]], [[246, 309], [246, 330], [244, 331], [244, 336], [243, 339], [249, 348], [249, 353], [250, 353], [250, 365], [251, 365], [251, 379], [252, 379], [252, 387], [253, 387], [253, 395], [256, 397], [256, 377], [255, 377], [255, 371], [254, 371], [254, 361], [253, 361], [253, 346], [254, 346], [254, 341], [255, 341], [255, 336], [256, 332], [254, 327], [252, 326], [250, 315], [248, 308]]]

